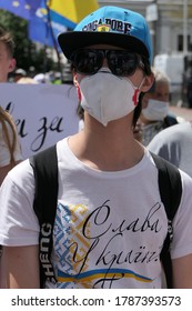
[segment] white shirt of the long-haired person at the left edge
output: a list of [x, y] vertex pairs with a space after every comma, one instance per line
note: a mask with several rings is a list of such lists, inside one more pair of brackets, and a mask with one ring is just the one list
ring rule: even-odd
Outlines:
[[[7, 123], [8, 134], [12, 139], [12, 130], [9, 123]], [[19, 139], [17, 140], [16, 150], [14, 150], [14, 161], [22, 160], [21, 149], [19, 144]], [[2, 124], [0, 123], [0, 168], [6, 167], [10, 163], [10, 151], [8, 144], [4, 141]]]

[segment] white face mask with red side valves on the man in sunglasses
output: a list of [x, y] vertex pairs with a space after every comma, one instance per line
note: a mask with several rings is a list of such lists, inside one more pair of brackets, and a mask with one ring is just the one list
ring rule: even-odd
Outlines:
[[137, 88], [128, 78], [117, 77], [102, 68], [81, 80], [81, 106], [107, 127], [108, 122], [125, 117], [137, 107], [141, 84]]

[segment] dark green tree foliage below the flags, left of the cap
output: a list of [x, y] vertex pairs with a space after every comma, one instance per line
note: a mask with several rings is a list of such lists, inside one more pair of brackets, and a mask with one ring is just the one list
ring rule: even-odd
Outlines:
[[57, 68], [53, 60], [47, 56], [46, 47], [39, 48], [29, 40], [27, 20], [0, 9], [0, 24], [13, 36], [18, 68], [29, 71], [30, 67], [34, 67], [36, 72], [47, 72]]

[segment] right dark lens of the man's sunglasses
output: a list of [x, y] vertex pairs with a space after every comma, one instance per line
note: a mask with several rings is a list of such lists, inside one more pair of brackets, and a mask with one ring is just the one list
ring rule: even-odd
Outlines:
[[131, 76], [139, 64], [138, 56], [134, 53], [109, 51], [108, 66], [113, 74]]

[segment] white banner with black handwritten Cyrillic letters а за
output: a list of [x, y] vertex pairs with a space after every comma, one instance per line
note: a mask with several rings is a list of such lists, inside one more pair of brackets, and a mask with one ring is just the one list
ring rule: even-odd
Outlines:
[[73, 86], [0, 83], [0, 106], [16, 121], [23, 159], [78, 132]]

